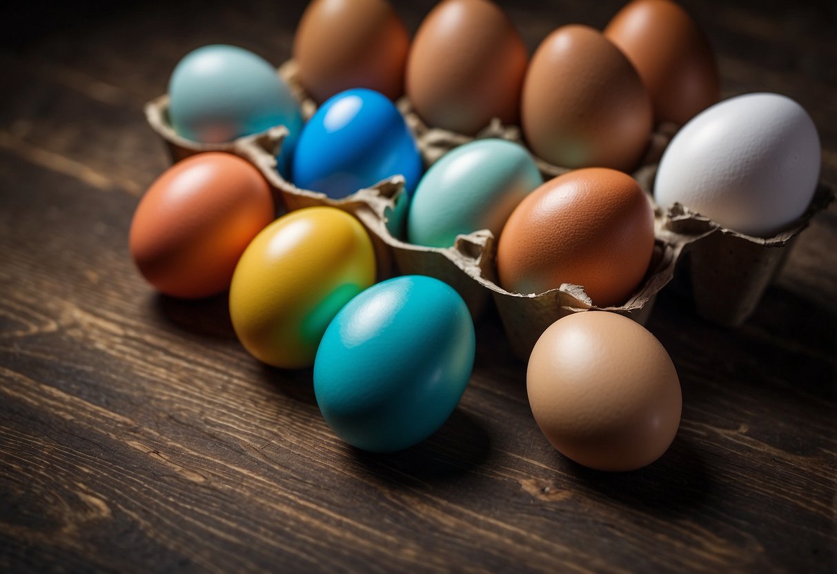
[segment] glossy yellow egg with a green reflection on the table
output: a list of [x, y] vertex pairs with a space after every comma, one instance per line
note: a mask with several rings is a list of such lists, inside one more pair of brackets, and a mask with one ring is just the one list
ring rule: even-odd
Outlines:
[[229, 289], [235, 334], [251, 355], [283, 368], [311, 366], [337, 311], [375, 282], [372, 240], [337, 208], [304, 208], [249, 244]]

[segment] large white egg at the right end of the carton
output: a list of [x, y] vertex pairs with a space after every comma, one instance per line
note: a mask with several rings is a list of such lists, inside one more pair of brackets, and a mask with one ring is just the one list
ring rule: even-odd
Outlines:
[[696, 115], [666, 148], [661, 206], [680, 202], [739, 233], [767, 237], [808, 208], [819, 180], [819, 135], [797, 102], [739, 95]]

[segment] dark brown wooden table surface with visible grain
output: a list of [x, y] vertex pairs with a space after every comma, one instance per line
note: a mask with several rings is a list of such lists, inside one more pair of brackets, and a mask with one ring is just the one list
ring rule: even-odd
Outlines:
[[[737, 329], [664, 291], [683, 420], [627, 474], [562, 458], [496, 314], [449, 422], [400, 454], [330, 432], [311, 371], [260, 365], [225, 297], [156, 295], [127, 232], [167, 166], [142, 105], [202, 44], [280, 64], [304, 4], [67, 3], [3, 14], [0, 571], [835, 571], [837, 208]], [[507, 3], [530, 49], [619, 0]], [[837, 182], [833, 3], [685, 2], [723, 94], [809, 110]], [[432, 2], [400, 2], [414, 30]]]

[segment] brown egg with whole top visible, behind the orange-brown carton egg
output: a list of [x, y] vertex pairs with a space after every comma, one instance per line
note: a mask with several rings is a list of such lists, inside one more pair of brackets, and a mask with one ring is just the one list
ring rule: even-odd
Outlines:
[[521, 124], [537, 156], [562, 167], [637, 167], [651, 132], [651, 103], [624, 54], [593, 28], [552, 32], [532, 56]]

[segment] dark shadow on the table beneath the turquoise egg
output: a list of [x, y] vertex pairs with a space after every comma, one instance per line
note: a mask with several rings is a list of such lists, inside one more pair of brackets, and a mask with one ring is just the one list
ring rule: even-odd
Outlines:
[[383, 484], [431, 487], [457, 479], [485, 462], [491, 442], [485, 427], [461, 408], [423, 442], [391, 454], [350, 448], [352, 459]]

